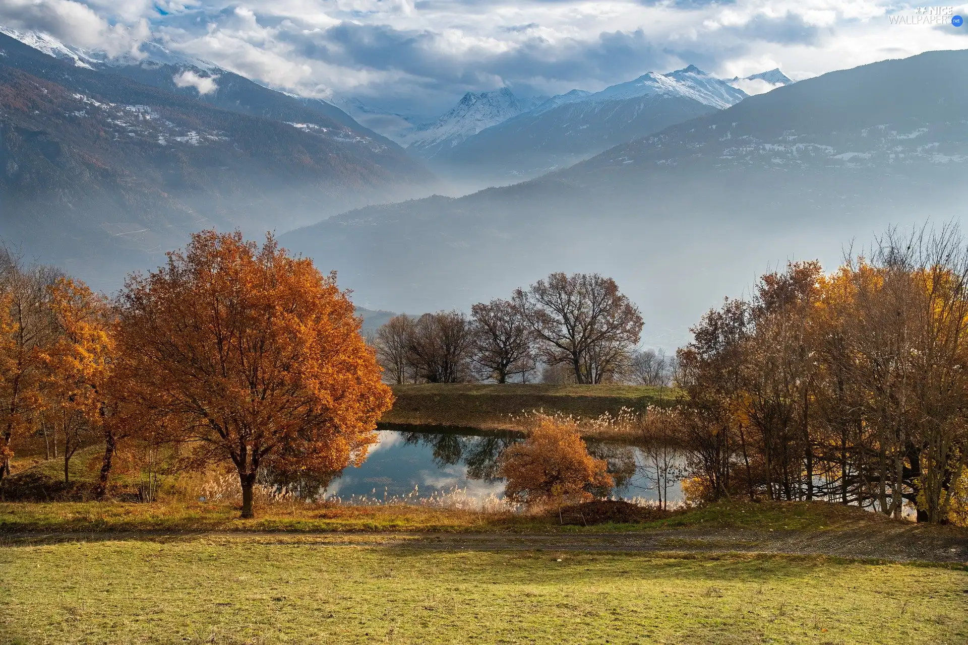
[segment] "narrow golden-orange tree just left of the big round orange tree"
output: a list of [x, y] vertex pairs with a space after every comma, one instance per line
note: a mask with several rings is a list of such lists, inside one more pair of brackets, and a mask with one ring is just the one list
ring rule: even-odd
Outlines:
[[[114, 366], [111, 308], [106, 299], [79, 280], [60, 278], [48, 287], [54, 336], [43, 349], [45, 388], [42, 414], [64, 441], [64, 483], [70, 461], [89, 435], [106, 425], [107, 381]], [[113, 436], [106, 434], [104, 492]]]

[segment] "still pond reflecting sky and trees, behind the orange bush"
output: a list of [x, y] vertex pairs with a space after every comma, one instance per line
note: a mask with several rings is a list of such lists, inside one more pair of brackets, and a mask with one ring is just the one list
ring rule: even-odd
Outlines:
[[[414, 500], [463, 490], [478, 500], [500, 498], [504, 483], [496, 476], [500, 452], [520, 441], [514, 432], [475, 431], [468, 428], [441, 429], [439, 426], [408, 426], [407, 430], [378, 430], [378, 443], [371, 447], [359, 468], [346, 468], [325, 487], [325, 497], [342, 501]], [[655, 469], [649, 454], [635, 446], [590, 441], [589, 452], [604, 458], [616, 481], [615, 497], [629, 500], [658, 499]], [[681, 456], [673, 455], [676, 466]], [[681, 485], [669, 478], [670, 503], [682, 499]], [[365, 500], [364, 500], [365, 501]]]

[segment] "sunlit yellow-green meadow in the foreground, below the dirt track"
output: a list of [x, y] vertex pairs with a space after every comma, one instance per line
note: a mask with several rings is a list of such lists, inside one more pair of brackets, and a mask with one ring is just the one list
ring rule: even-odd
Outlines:
[[0, 642], [964, 643], [968, 573], [279, 538], [0, 548]]

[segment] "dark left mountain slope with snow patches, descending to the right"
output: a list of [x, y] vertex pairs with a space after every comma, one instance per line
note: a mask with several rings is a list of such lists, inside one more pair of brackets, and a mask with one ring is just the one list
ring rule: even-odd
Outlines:
[[0, 234], [69, 270], [119, 275], [203, 226], [287, 230], [435, 181], [333, 106], [195, 62], [66, 51], [0, 34]]

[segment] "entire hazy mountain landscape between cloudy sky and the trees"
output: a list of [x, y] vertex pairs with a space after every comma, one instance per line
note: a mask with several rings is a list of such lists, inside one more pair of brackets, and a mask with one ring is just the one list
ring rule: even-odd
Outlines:
[[[0, 35], [0, 234], [106, 290], [202, 227], [272, 228], [374, 310], [609, 275], [643, 309], [645, 341], [673, 348], [777, 263], [832, 267], [888, 225], [964, 214], [966, 51], [797, 83], [690, 66], [538, 102], [469, 93], [423, 128], [389, 115], [409, 124], [394, 131], [405, 150], [333, 103], [152, 47], [106, 58]], [[534, 178], [408, 199], [443, 190], [435, 170]]]

